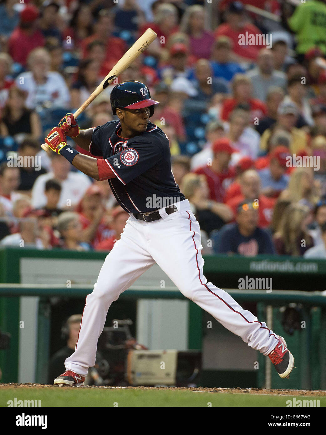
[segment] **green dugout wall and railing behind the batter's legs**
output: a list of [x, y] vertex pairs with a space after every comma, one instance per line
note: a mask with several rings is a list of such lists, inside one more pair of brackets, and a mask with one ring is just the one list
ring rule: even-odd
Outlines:
[[[0, 329], [9, 331], [12, 335], [10, 350], [0, 351], [0, 367], [3, 371], [2, 382], [16, 382], [19, 379], [18, 361], [22, 363], [20, 312], [24, 304], [33, 301], [38, 297], [35, 305], [35, 324], [38, 340], [35, 343], [35, 379], [44, 381], [42, 373], [46, 364], [49, 352], [49, 344], [44, 337], [49, 336], [49, 297], [64, 296], [67, 298], [84, 298], [92, 291], [93, 280], [87, 275], [90, 269], [99, 268], [106, 254], [100, 252], [70, 252], [61, 250], [38, 251], [23, 248], [0, 249], [0, 282], [3, 284], [25, 283], [24, 286], [0, 286]], [[51, 267], [49, 268], [49, 264]], [[67, 268], [76, 269], [66, 284], [67, 274], [63, 272], [60, 276], [62, 265]], [[93, 271], [93, 273], [94, 273]], [[287, 258], [273, 256], [259, 256], [255, 258], [210, 256], [205, 258], [204, 273], [208, 281], [212, 281], [220, 288], [238, 288], [239, 279], [245, 278], [272, 278], [273, 291], [271, 293], [260, 291], [231, 291], [233, 297], [239, 301], [244, 308], [245, 304], [256, 304], [259, 320], [266, 321], [267, 309], [269, 315], [272, 313], [273, 330], [281, 333], [293, 351], [299, 356], [299, 367], [286, 384], [286, 388], [313, 388], [326, 389], [325, 379], [325, 349], [326, 349], [326, 297], [316, 294], [316, 291], [325, 290], [326, 261], [307, 261], [302, 258]], [[77, 276], [78, 280], [74, 280]], [[80, 279], [81, 277], [81, 279]], [[62, 284], [58, 284], [61, 282]], [[120, 296], [120, 299], [137, 299], [146, 301], [151, 299], [176, 299], [186, 303], [187, 312], [183, 313], [186, 319], [186, 347], [189, 349], [207, 348], [207, 343], [214, 344], [214, 337], [211, 331], [207, 330], [207, 313], [202, 311], [191, 301], [185, 302], [185, 298], [173, 286], [171, 282], [165, 282], [162, 287], [161, 274], [153, 274], [143, 281], [136, 281], [132, 289]], [[77, 279], [77, 278], [76, 278]], [[79, 285], [75, 285], [77, 282]], [[56, 283], [56, 284], [54, 284]], [[45, 285], [47, 284], [47, 285]], [[138, 284], [138, 285], [137, 285]], [[274, 290], [275, 289], [275, 290]], [[294, 290], [290, 293], [276, 291], [276, 289]], [[309, 294], [309, 292], [312, 292]], [[28, 298], [27, 295], [30, 295]], [[281, 306], [289, 302], [301, 303], [303, 306], [303, 321], [306, 327], [302, 331], [296, 331], [293, 336], [285, 335], [281, 325], [282, 315], [279, 310]], [[249, 309], [249, 308], [248, 308]], [[225, 328], [218, 328], [218, 322], [212, 319], [215, 325], [215, 338], [232, 340], [234, 336], [227, 336], [229, 331]], [[225, 332], [226, 331], [226, 332]], [[43, 338], [41, 338], [43, 337]], [[237, 339], [237, 337], [236, 337]], [[241, 339], [240, 339], [241, 341]], [[26, 345], [26, 344], [25, 344]], [[241, 343], [236, 342], [233, 349], [239, 347], [241, 356]], [[181, 349], [180, 349], [181, 350]], [[205, 351], [206, 352], [206, 351]], [[243, 367], [227, 371], [222, 367], [220, 370], [207, 368], [203, 370], [201, 385], [203, 386], [241, 386], [262, 387], [266, 382], [266, 358], [259, 352], [252, 351], [249, 359], [253, 363], [258, 362], [259, 370], [246, 370]], [[246, 354], [247, 355], [247, 354]], [[249, 354], [248, 354], [249, 355]], [[218, 357], [218, 355], [217, 355]], [[247, 356], [245, 357], [245, 359]], [[296, 359], [297, 362], [297, 359]], [[249, 361], [249, 366], [251, 362]], [[209, 363], [206, 364], [209, 366]], [[232, 365], [232, 362], [231, 362]], [[273, 388], [284, 388], [284, 383], [274, 372], [271, 372], [271, 386]], [[281, 382], [281, 384], [279, 383]]]

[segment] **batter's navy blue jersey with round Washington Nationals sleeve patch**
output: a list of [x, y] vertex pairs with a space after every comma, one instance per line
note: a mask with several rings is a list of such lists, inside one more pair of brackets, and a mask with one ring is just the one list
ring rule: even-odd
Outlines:
[[116, 178], [109, 184], [118, 203], [129, 213], [153, 211], [185, 199], [171, 171], [166, 134], [149, 122], [146, 131], [120, 137], [120, 121], [95, 127], [90, 153], [103, 157]]

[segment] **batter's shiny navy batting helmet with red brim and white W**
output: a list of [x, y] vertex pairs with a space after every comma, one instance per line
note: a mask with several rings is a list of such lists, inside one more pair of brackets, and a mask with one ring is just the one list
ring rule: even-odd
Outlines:
[[111, 91], [110, 101], [113, 115], [116, 108], [142, 109], [150, 106], [150, 117], [154, 114], [154, 104], [158, 101], [152, 100], [150, 90], [146, 84], [138, 80], [130, 80], [117, 84]]

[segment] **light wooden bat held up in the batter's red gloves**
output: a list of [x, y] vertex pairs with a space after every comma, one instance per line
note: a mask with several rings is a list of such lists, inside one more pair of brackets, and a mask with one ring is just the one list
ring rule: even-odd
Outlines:
[[[153, 42], [153, 40], [157, 37], [157, 34], [152, 29], [147, 29], [146, 32], [142, 34], [142, 36], [136, 40], [136, 42], [130, 47], [130, 49], [121, 57], [120, 60], [114, 65], [109, 74], [105, 77], [101, 84], [94, 90], [92, 94], [87, 98], [86, 101], [80, 106], [79, 109], [73, 114], [73, 117], [77, 119], [77, 117], [90, 105], [92, 101], [95, 100], [96, 97], [106, 89], [109, 84], [113, 82], [113, 80], [120, 76], [120, 74], [126, 70], [130, 64], [138, 57], [144, 50]], [[47, 144], [42, 144], [41, 147], [44, 151], [49, 152], [51, 148]], [[51, 150], [53, 151], [53, 150]]]

